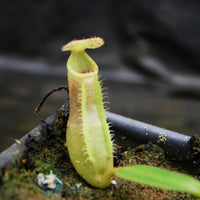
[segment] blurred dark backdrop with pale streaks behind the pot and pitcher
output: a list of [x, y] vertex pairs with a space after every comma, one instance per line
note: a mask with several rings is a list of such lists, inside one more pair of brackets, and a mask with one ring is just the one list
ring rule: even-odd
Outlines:
[[55, 112], [73, 40], [100, 36], [88, 53], [108, 87], [110, 111], [200, 134], [200, 2], [197, 0], [0, 1], [0, 151]]

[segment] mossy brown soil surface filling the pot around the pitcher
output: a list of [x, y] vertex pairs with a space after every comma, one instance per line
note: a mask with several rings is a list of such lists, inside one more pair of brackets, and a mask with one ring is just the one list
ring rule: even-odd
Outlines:
[[[65, 123], [63, 123], [63, 127], [65, 127]], [[59, 126], [59, 131], [61, 129], [62, 126]], [[40, 150], [32, 152], [32, 161], [34, 162], [32, 168], [5, 171], [0, 186], [2, 199], [196, 199], [189, 194], [152, 188], [117, 177], [114, 177], [116, 185], [111, 185], [106, 189], [93, 188], [77, 174], [70, 162], [68, 151], [64, 146], [65, 129], [63, 128], [59, 134], [56, 131], [55, 127], [54, 133], [50, 134], [42, 143]], [[166, 159], [163, 151], [153, 144], [129, 147], [123, 151], [121, 147], [117, 147], [116, 152], [119, 152], [119, 155], [123, 154], [118, 159], [119, 166], [148, 164], [172, 171], [190, 173], [182, 169], [180, 165]], [[63, 192], [58, 195], [45, 196], [36, 184], [36, 174], [39, 172], [49, 173], [51, 169], [64, 183]]]

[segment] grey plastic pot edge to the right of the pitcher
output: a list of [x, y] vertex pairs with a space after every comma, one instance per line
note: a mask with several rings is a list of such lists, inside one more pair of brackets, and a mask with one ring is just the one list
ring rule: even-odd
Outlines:
[[146, 144], [151, 141], [158, 144], [170, 157], [179, 160], [189, 158], [190, 147], [188, 135], [166, 130], [144, 122], [107, 112], [107, 120], [112, 123], [115, 134], [120, 133], [135, 143]]

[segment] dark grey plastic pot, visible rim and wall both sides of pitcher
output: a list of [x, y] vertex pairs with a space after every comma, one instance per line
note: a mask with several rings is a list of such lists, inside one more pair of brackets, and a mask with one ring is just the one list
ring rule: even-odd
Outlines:
[[[168, 155], [175, 159], [188, 159], [191, 148], [189, 147], [190, 136], [169, 131], [144, 122], [123, 117], [118, 114], [107, 112], [108, 122], [112, 123], [112, 129], [118, 138], [126, 137], [135, 144], [146, 144], [149, 141], [158, 144]], [[46, 124], [53, 128], [57, 113], [45, 120]], [[13, 167], [18, 160], [26, 153], [26, 142], [30, 138], [37, 143], [42, 138], [43, 125], [39, 124], [32, 131], [20, 139], [19, 143], [14, 143], [8, 149], [0, 153], [0, 170], [6, 166]]]

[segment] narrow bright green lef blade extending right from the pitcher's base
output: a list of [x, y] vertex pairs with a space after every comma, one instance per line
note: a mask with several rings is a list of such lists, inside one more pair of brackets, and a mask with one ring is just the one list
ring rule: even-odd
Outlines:
[[200, 197], [200, 182], [185, 174], [151, 167], [136, 165], [116, 170], [116, 176], [162, 189], [187, 192]]

